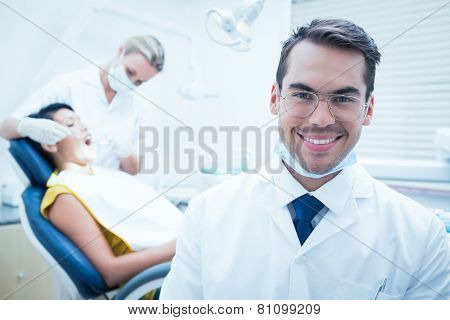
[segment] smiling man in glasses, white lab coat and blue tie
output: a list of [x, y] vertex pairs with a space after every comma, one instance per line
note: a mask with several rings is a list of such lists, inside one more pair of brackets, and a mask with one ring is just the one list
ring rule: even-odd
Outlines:
[[191, 200], [163, 299], [449, 298], [444, 226], [353, 151], [373, 116], [379, 60], [349, 21], [294, 32], [272, 87], [271, 170]]

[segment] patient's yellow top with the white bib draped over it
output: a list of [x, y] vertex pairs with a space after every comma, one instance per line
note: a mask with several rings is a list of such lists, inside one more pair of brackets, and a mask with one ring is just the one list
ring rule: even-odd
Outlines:
[[178, 235], [181, 212], [137, 178], [92, 167], [91, 173], [64, 170], [47, 181], [41, 213], [58, 195], [75, 196], [102, 228], [116, 255], [162, 245]]

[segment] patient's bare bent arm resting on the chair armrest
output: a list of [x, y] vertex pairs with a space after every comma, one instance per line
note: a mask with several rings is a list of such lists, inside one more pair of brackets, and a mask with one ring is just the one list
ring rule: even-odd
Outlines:
[[148, 267], [171, 260], [175, 254], [173, 240], [159, 247], [116, 257], [97, 222], [71, 194], [56, 198], [50, 207], [49, 219], [83, 251], [110, 287], [126, 282]]

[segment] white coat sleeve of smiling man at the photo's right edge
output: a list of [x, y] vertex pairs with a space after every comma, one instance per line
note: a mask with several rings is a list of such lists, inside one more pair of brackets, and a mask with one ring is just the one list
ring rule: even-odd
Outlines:
[[420, 269], [405, 293], [405, 299], [450, 299], [450, 251], [447, 233], [440, 221], [433, 217], [428, 231]]

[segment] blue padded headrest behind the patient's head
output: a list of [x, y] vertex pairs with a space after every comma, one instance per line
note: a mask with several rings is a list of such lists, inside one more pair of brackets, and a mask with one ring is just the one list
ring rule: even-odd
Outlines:
[[11, 140], [9, 152], [26, 174], [31, 185], [45, 187], [52, 168], [26, 139]]

